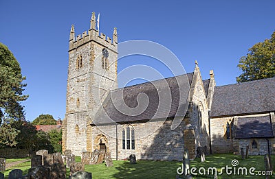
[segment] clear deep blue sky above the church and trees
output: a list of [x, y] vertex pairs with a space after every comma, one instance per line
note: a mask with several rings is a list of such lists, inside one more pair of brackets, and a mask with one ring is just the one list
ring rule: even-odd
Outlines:
[[[192, 72], [213, 69], [217, 85], [235, 83], [236, 65], [255, 43], [275, 29], [275, 1], [0, 1], [0, 42], [21, 64], [25, 82], [26, 119], [41, 113], [65, 117], [69, 30], [89, 29], [91, 12], [100, 12], [100, 32], [118, 41], [152, 40], [164, 45]], [[132, 64], [162, 67], [149, 58], [125, 58], [118, 72]], [[163, 69], [164, 77], [170, 74]]]

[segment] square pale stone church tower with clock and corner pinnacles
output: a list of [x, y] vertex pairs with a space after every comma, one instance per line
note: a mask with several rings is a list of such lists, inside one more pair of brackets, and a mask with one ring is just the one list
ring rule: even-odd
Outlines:
[[69, 34], [69, 67], [67, 77], [66, 115], [63, 122], [63, 151], [80, 156], [91, 151], [91, 126], [99, 106], [109, 91], [118, 88], [118, 35], [113, 40], [96, 29], [92, 13], [88, 32]]

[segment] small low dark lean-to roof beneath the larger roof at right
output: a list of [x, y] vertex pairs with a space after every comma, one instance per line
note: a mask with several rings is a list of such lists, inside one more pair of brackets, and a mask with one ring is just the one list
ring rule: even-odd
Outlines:
[[236, 139], [273, 137], [270, 116], [237, 119]]

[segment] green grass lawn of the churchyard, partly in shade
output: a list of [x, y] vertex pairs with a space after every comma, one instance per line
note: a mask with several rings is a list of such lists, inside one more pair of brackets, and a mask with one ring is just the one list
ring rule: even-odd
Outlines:
[[[217, 167], [218, 172], [221, 171], [221, 167], [232, 167], [231, 162], [233, 159], [239, 161], [238, 167], [255, 167], [256, 171], [264, 170], [263, 156], [250, 156], [250, 158], [241, 160], [241, 156], [233, 154], [214, 154], [206, 156], [206, 162], [201, 163], [199, 158], [190, 162], [191, 167]], [[80, 162], [80, 157], [76, 157], [76, 161]], [[272, 163], [275, 167], [275, 155], [272, 156]], [[85, 165], [85, 171], [92, 173], [93, 178], [175, 178], [177, 175], [177, 168], [181, 167], [181, 163], [172, 161], [137, 161], [137, 164], [130, 165], [129, 161], [113, 160], [113, 167], [105, 167], [104, 163], [99, 165]], [[21, 163], [12, 167], [4, 172], [5, 178], [8, 178], [8, 173], [15, 168], [23, 170], [23, 174], [28, 173], [30, 168], [30, 162]], [[258, 174], [256, 171], [255, 174]], [[198, 173], [198, 170], [197, 170]], [[67, 169], [67, 176], [69, 176], [69, 169]], [[67, 177], [68, 178], [68, 177]], [[193, 178], [213, 178], [213, 176], [193, 176]], [[228, 176], [223, 170], [223, 175], [218, 178], [265, 178], [265, 176]], [[275, 178], [271, 176], [270, 178]]]

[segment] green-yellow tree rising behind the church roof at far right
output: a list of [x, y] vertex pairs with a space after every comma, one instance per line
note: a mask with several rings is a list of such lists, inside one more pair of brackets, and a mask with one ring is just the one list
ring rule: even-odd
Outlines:
[[238, 67], [243, 73], [236, 77], [237, 82], [275, 77], [275, 32], [270, 39], [253, 45], [248, 55], [239, 60]]

